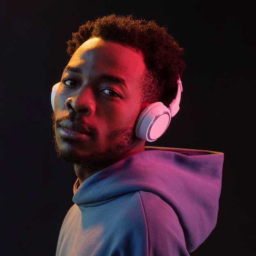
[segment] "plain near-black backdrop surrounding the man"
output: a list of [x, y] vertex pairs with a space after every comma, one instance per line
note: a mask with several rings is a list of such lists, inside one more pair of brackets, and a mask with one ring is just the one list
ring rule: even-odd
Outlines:
[[191, 256], [255, 250], [254, 1], [4, 0], [0, 33], [0, 254], [53, 256], [76, 176], [52, 142], [52, 85], [66, 41], [115, 12], [167, 26], [185, 49], [181, 109], [151, 145], [225, 153], [218, 224]]

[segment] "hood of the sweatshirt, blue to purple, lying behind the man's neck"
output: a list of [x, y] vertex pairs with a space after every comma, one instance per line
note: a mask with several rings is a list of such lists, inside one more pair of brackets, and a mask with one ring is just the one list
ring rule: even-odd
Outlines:
[[195, 250], [216, 226], [224, 154], [207, 150], [146, 147], [85, 180], [73, 201], [99, 205], [133, 191], [155, 193], [176, 212], [186, 247]]

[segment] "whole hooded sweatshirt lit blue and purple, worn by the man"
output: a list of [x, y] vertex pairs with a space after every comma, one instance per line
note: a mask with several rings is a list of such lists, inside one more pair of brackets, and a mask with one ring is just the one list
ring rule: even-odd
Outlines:
[[77, 180], [56, 256], [189, 256], [216, 226], [223, 160], [146, 147]]

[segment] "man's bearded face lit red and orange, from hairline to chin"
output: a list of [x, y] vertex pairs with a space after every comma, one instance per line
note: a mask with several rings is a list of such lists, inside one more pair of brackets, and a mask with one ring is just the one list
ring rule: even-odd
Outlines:
[[54, 103], [59, 154], [75, 164], [115, 162], [144, 150], [134, 135], [146, 66], [140, 52], [92, 38], [64, 69]]

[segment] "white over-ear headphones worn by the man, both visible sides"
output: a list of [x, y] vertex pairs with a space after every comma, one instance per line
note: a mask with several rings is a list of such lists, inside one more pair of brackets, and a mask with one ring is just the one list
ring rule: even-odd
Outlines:
[[[54, 98], [60, 82], [52, 87], [51, 103], [54, 111]], [[148, 105], [139, 115], [135, 124], [135, 134], [138, 138], [152, 142], [161, 137], [168, 128], [171, 118], [180, 110], [181, 92], [183, 91], [180, 77], [177, 81], [177, 94], [169, 107], [162, 102]]]

